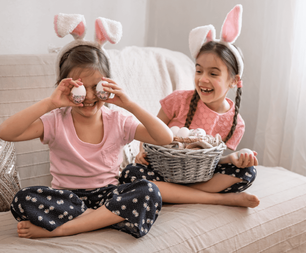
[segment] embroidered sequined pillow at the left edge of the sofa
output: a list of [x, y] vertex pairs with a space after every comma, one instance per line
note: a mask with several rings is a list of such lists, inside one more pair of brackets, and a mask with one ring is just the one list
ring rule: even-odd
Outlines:
[[0, 212], [9, 211], [13, 197], [20, 189], [14, 143], [0, 139]]

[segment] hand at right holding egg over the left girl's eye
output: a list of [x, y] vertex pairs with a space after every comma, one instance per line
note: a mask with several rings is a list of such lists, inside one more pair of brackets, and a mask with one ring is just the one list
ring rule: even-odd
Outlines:
[[102, 84], [104, 87], [103, 90], [115, 95], [114, 98], [105, 99], [103, 102], [111, 103], [124, 109], [128, 108], [131, 100], [125, 91], [123, 91], [123, 89], [110, 78], [102, 77], [102, 80], [108, 82], [108, 84]]

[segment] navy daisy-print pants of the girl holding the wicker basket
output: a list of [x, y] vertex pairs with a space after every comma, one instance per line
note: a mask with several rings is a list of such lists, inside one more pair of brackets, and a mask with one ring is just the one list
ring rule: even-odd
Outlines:
[[[241, 169], [231, 163], [218, 164], [214, 173], [227, 174], [232, 177], [238, 177], [242, 179], [242, 182], [236, 183], [219, 193], [242, 192], [252, 185], [256, 177], [256, 169], [254, 166]], [[164, 178], [159, 175], [159, 173], [151, 168], [151, 165], [147, 166], [139, 163], [131, 163], [122, 170], [119, 177], [119, 182], [121, 184], [125, 184], [138, 179], [165, 181]]]

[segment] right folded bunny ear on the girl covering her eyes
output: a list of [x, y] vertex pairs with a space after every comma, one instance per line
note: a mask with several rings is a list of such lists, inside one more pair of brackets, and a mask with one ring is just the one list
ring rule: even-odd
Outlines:
[[95, 40], [104, 45], [107, 41], [116, 44], [122, 37], [122, 25], [118, 21], [97, 18], [95, 21]]

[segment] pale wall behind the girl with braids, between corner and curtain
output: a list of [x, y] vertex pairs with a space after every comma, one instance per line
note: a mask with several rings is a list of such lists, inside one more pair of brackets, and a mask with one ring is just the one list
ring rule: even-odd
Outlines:
[[[226, 14], [242, 4], [241, 35], [235, 45], [244, 55], [243, 93], [240, 114], [246, 131], [238, 146], [253, 148], [259, 101], [259, 82], [263, 48], [263, 6], [265, 0], [152, 0], [149, 2], [147, 45], [180, 51], [191, 57], [188, 46], [189, 32], [202, 25], [212, 24], [219, 38]], [[235, 94], [229, 92], [233, 100]]]

